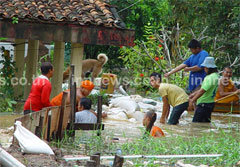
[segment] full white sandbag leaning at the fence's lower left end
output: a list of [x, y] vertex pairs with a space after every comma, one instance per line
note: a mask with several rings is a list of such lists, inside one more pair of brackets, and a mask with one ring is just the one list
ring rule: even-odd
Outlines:
[[54, 154], [52, 149], [44, 141], [23, 127], [20, 121], [16, 121], [15, 126], [16, 130], [14, 132], [14, 137], [18, 140], [22, 152], [50, 155]]

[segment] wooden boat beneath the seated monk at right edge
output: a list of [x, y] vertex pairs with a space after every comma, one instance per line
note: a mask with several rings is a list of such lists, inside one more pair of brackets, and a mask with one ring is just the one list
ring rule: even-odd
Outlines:
[[232, 103], [215, 103], [213, 112], [240, 114], [240, 105]]

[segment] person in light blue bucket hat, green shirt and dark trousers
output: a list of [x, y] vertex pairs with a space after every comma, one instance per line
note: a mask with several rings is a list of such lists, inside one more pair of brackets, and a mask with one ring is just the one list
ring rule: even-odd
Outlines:
[[211, 122], [211, 113], [214, 108], [214, 97], [218, 88], [218, 72], [213, 57], [206, 57], [201, 64], [207, 76], [201, 88], [189, 96], [189, 108], [197, 106], [192, 122]]

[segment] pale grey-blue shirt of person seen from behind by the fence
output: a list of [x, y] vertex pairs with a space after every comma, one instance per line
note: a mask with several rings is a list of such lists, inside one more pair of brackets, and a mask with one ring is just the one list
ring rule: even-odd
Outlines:
[[97, 117], [89, 110], [76, 112], [75, 123], [97, 123]]

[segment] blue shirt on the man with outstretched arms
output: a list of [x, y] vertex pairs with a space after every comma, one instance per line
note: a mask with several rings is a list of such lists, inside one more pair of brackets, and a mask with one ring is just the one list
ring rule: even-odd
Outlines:
[[[183, 64], [188, 67], [198, 66], [202, 68], [201, 64], [204, 62], [205, 58], [208, 57], [208, 52], [201, 50], [198, 54], [192, 54]], [[193, 91], [203, 82], [206, 76], [205, 71], [202, 69], [196, 72], [190, 72], [189, 74], [189, 86], [188, 89]]]

